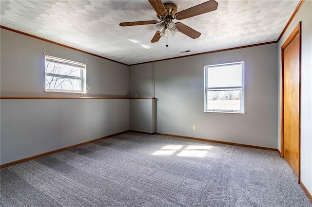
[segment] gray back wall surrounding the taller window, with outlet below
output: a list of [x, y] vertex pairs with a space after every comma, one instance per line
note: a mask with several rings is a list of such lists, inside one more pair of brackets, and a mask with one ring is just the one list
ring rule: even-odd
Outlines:
[[[276, 47], [275, 43], [155, 62], [156, 132], [277, 148]], [[204, 66], [238, 61], [245, 61], [246, 114], [204, 113]], [[137, 83], [151, 86], [152, 76], [140, 74], [152, 71], [152, 64], [131, 66], [130, 88], [146, 91]]]

